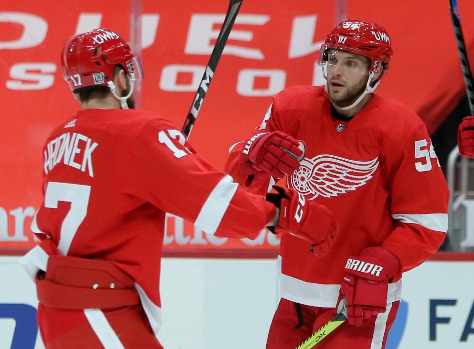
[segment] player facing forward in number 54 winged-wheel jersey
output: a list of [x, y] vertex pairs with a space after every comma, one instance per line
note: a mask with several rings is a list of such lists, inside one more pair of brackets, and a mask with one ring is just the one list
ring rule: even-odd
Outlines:
[[297, 347], [344, 302], [348, 320], [317, 347], [384, 348], [402, 273], [427, 260], [446, 236], [449, 192], [425, 125], [374, 94], [392, 54], [380, 25], [344, 21], [320, 50], [326, 85], [294, 86], [273, 97], [254, 131], [260, 136], [252, 138], [303, 140], [297, 171], [268, 171], [245, 141], [231, 148], [226, 171], [248, 191], [263, 194], [270, 180], [286, 175], [289, 188], [331, 210], [340, 228], [321, 257], [282, 236], [281, 299], [269, 349]]

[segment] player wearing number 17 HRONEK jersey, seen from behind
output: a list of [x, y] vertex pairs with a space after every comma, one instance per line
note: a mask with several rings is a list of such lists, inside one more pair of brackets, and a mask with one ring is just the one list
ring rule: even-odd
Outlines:
[[254, 239], [270, 226], [315, 255], [328, 250], [330, 211], [288, 188], [267, 200], [246, 192], [169, 120], [133, 110], [142, 67], [115, 32], [71, 37], [61, 63], [82, 110], [45, 142], [44, 201], [32, 223], [41, 243], [21, 260], [36, 281], [46, 348], [161, 348], [165, 212], [216, 236]]

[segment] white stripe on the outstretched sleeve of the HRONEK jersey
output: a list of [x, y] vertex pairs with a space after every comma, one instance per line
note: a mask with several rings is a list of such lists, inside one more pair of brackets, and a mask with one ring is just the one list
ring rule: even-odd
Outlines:
[[194, 225], [208, 234], [214, 234], [237, 191], [237, 187], [238, 184], [234, 183], [234, 179], [230, 175], [222, 178], [202, 206]]

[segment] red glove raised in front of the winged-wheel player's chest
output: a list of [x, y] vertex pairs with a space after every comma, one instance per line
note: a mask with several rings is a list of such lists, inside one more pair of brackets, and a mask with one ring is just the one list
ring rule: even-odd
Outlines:
[[257, 178], [291, 175], [300, 165], [297, 159], [304, 156], [298, 144], [293, 137], [280, 131], [256, 134], [245, 142], [238, 168], [241, 173]]

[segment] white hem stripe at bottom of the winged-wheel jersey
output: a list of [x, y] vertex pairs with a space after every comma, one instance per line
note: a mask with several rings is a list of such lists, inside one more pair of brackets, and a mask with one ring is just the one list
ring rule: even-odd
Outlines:
[[[281, 272], [281, 256], [277, 258], [277, 274], [280, 279], [280, 297], [313, 307], [335, 308], [340, 284], [322, 284], [293, 278]], [[401, 299], [401, 279], [389, 283], [387, 303]]]

